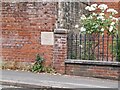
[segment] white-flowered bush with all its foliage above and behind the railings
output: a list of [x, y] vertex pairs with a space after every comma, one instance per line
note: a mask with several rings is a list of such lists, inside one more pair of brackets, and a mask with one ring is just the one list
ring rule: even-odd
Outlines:
[[[115, 9], [108, 8], [106, 4], [92, 4], [90, 6], [85, 7], [86, 10], [88, 10], [89, 14], [84, 14], [81, 16], [81, 24], [82, 27], [80, 29], [80, 32], [86, 35], [104, 35], [104, 32], [107, 31], [108, 35], [114, 35], [117, 36], [118, 34], [118, 18], [115, 18], [114, 15], [118, 14], [118, 12]], [[94, 12], [96, 10], [99, 10], [99, 12]], [[91, 48], [89, 50], [92, 51], [92, 54], [95, 50], [95, 48], [100, 45], [99, 42], [94, 41], [94, 45], [91, 43]], [[118, 40], [118, 45], [114, 46], [113, 52], [115, 53], [115, 56], [119, 58], [120, 60], [120, 41]], [[86, 45], [87, 46], [87, 45]], [[89, 45], [88, 45], [89, 46]], [[87, 47], [88, 47], [87, 46]], [[116, 49], [117, 48], [117, 49]], [[95, 55], [89, 55], [89, 52], [86, 51], [85, 57], [83, 59], [89, 58], [94, 59]]]

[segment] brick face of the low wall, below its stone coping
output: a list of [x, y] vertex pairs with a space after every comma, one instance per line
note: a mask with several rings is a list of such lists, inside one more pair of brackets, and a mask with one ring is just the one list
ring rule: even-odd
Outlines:
[[66, 64], [65, 72], [69, 75], [119, 79], [119, 67]]

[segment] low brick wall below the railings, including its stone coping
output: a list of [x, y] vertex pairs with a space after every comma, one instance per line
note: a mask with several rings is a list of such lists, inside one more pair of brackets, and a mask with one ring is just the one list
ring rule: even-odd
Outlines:
[[89, 63], [86, 61], [74, 61], [66, 62], [65, 64], [65, 72], [69, 75], [76, 75], [76, 76], [86, 76], [86, 77], [95, 77], [95, 78], [104, 78], [104, 79], [115, 79], [119, 80], [120, 72], [119, 72], [119, 65], [116, 63], [111, 64], [104, 64], [104, 62], [99, 64], [95, 64], [95, 62]]

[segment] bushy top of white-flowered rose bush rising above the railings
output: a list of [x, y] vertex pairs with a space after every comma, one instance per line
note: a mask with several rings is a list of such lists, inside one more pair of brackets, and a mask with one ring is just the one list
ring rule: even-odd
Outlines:
[[[103, 35], [105, 30], [107, 30], [108, 34], [118, 33], [118, 19], [114, 17], [118, 12], [115, 9], [108, 8], [105, 4], [92, 4], [91, 6], [85, 7], [85, 9], [90, 14], [81, 16], [81, 33], [99, 33]], [[95, 10], [100, 10], [100, 12], [95, 13]]]

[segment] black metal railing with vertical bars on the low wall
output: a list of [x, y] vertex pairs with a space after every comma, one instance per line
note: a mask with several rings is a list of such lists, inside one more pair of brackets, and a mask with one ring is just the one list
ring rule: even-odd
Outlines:
[[70, 33], [68, 59], [120, 61], [120, 37]]

